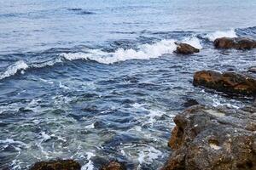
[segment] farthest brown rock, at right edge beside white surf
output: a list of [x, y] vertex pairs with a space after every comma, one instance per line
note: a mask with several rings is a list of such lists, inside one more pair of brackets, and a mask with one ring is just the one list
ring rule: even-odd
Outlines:
[[215, 48], [236, 48], [252, 49], [256, 48], [256, 41], [246, 37], [220, 37], [214, 41]]

